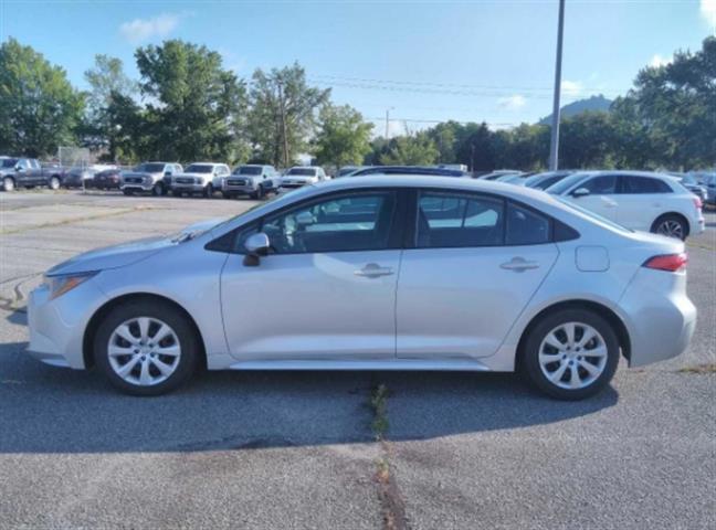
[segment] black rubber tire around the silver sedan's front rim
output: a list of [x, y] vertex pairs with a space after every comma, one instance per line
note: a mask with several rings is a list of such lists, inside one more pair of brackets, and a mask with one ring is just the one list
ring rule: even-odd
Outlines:
[[[109, 339], [123, 322], [138, 317], [157, 318], [176, 332], [181, 354], [175, 371], [166, 380], [151, 385], [133, 384], [120, 378], [109, 363]], [[196, 329], [189, 319], [171, 304], [157, 299], [138, 299], [124, 303], [112, 309], [102, 320], [94, 337], [95, 364], [107, 380], [120, 391], [131, 395], [160, 395], [187, 383], [200, 367], [201, 346]]]

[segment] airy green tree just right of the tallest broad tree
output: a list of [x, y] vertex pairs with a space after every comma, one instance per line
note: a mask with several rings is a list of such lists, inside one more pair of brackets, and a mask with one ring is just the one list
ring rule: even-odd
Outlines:
[[309, 87], [298, 63], [271, 72], [256, 70], [250, 91], [249, 137], [254, 157], [287, 167], [308, 149], [318, 109], [330, 89]]

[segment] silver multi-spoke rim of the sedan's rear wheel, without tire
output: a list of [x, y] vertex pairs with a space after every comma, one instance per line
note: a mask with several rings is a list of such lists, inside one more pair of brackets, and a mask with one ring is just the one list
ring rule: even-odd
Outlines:
[[556, 386], [567, 390], [592, 384], [607, 367], [603, 337], [582, 322], [565, 322], [554, 328], [539, 346], [539, 368]]

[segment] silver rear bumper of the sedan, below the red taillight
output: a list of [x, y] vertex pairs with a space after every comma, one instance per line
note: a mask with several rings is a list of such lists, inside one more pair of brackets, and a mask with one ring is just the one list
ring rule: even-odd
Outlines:
[[[664, 283], [671, 284], [663, 289]], [[641, 269], [620, 303], [630, 341], [630, 367], [682, 354], [696, 329], [696, 307], [686, 296], [686, 275]]]

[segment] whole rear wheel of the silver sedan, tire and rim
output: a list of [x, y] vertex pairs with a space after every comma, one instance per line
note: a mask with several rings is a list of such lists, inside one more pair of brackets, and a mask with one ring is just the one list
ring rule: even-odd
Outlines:
[[564, 309], [533, 327], [522, 356], [524, 374], [539, 390], [560, 400], [581, 400], [611, 381], [619, 339], [598, 314]]

